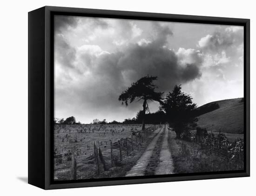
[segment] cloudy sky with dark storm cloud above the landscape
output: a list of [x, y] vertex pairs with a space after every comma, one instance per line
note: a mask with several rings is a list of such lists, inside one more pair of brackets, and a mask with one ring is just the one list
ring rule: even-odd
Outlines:
[[[158, 76], [158, 91], [175, 84], [201, 106], [243, 97], [243, 27], [55, 16], [56, 118], [122, 121], [142, 109], [118, 97], [131, 82]], [[159, 104], [150, 102], [150, 112]]]

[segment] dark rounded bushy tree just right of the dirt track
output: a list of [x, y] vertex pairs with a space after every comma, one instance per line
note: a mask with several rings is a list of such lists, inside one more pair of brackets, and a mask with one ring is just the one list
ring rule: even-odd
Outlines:
[[181, 85], [175, 85], [172, 93], [166, 95], [161, 108], [167, 115], [167, 121], [175, 130], [176, 137], [181, 138], [188, 125], [195, 124], [197, 119], [194, 115], [196, 104], [192, 102], [192, 97], [182, 92]]

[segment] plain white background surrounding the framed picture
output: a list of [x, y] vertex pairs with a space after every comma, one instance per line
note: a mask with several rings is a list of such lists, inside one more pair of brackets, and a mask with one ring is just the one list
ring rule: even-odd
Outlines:
[[[5, 0], [0, 11], [0, 195], [253, 195], [255, 192], [256, 12], [252, 0]], [[27, 12], [70, 6], [251, 19], [251, 177], [40, 190], [27, 184]]]

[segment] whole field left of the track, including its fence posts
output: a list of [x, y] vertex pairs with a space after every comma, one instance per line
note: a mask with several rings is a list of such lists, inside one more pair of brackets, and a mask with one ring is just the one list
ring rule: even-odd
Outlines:
[[141, 125], [137, 124], [55, 125], [54, 179], [100, 177], [103, 171], [111, 171], [131, 154], [134, 157], [142, 152], [158, 127], [146, 125], [146, 130], [140, 132]]

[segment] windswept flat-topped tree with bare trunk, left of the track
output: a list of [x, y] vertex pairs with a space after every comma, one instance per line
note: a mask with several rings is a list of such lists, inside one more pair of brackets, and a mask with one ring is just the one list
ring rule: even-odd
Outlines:
[[143, 101], [143, 110], [142, 110], [142, 131], [145, 130], [145, 115], [146, 110], [149, 111], [148, 101], [162, 101], [161, 92], [155, 92], [157, 88], [153, 81], [157, 80], [156, 76], [145, 76], [139, 79], [137, 82], [133, 82], [131, 86], [123, 91], [119, 96], [119, 101], [122, 101], [122, 104], [125, 102], [126, 106], [128, 106], [128, 101], [132, 103], [137, 100]]

